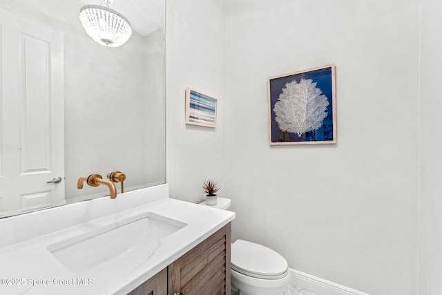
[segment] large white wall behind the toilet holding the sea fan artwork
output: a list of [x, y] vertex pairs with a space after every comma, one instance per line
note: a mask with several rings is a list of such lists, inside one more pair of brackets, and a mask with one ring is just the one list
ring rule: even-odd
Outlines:
[[[227, 3], [233, 238], [369, 294], [416, 294], [418, 1]], [[267, 77], [325, 64], [338, 144], [269, 146]]]

